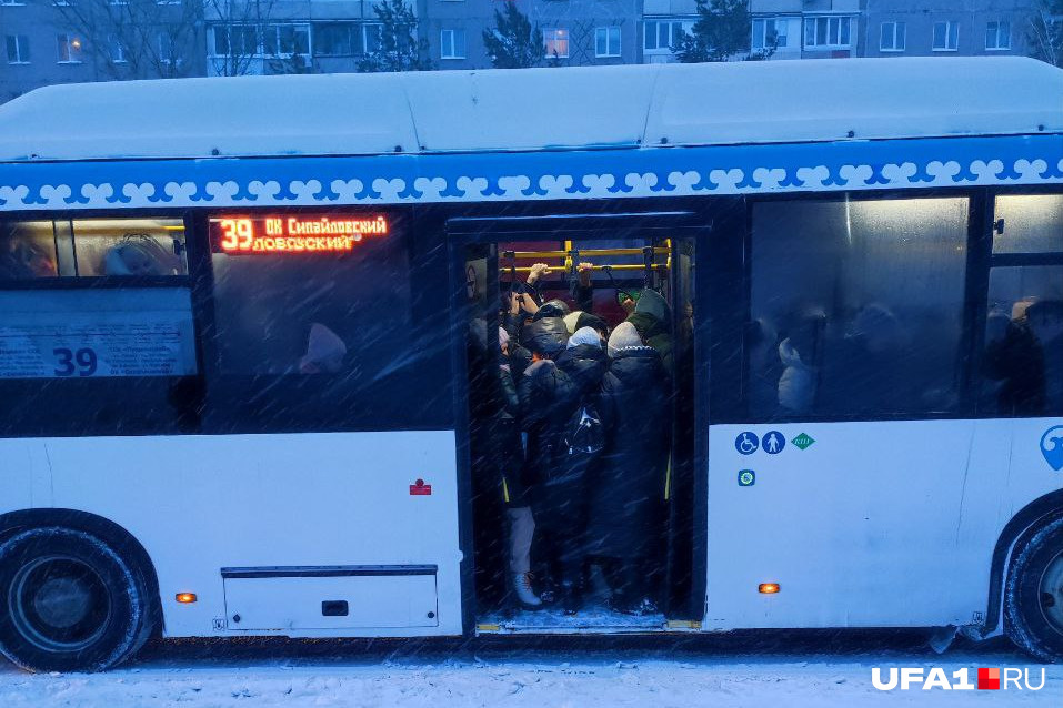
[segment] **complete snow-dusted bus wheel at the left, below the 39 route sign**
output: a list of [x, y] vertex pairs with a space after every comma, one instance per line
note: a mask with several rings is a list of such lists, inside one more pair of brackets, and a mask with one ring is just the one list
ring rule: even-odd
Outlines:
[[99, 538], [33, 528], [0, 546], [0, 653], [31, 671], [100, 671], [150, 635], [143, 573]]

